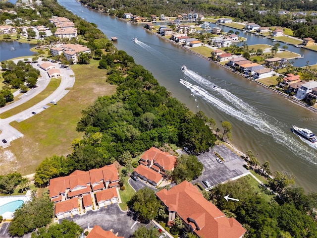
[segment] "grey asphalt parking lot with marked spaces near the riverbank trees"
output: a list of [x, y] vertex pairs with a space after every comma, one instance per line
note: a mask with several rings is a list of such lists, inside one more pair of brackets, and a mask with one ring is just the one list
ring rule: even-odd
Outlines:
[[[217, 156], [213, 152], [217, 152], [224, 159], [222, 164], [217, 162]], [[202, 183], [203, 180], [208, 180], [211, 186], [214, 186], [248, 173], [248, 170], [243, 167], [244, 160], [224, 145], [215, 145], [209, 152], [202, 153], [197, 158], [203, 163], [204, 171], [192, 183], [200, 182], [205, 188], [207, 186]]]

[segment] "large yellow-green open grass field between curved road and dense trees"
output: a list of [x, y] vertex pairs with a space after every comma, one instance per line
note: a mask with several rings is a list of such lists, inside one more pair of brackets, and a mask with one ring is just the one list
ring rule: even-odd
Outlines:
[[106, 83], [106, 71], [98, 69], [98, 64], [98, 61], [91, 60], [88, 65], [73, 65], [74, 87], [57, 105], [20, 123], [11, 123], [24, 137], [0, 150], [0, 173], [19, 171], [22, 175], [32, 174], [46, 157], [71, 152], [71, 142], [83, 135], [76, 132], [82, 110], [98, 96], [115, 93], [116, 86]]

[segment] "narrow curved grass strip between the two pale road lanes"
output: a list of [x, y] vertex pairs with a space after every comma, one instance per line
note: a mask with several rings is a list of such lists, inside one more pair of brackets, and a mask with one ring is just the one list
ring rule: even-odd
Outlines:
[[47, 98], [49, 95], [51, 95], [56, 90], [56, 88], [59, 86], [59, 84], [60, 84], [60, 78], [51, 79], [49, 85], [47, 86], [46, 89], [43, 90], [43, 92], [41, 92], [40, 94], [38, 94], [37, 96], [35, 96], [31, 100], [25, 102], [24, 104], [22, 104], [18, 107], [12, 108], [11, 110], [6, 111], [4, 113], [1, 113], [0, 118], [4, 119], [4, 118], [11, 117], [17, 113], [20, 113], [20, 112], [34, 106], [35, 104], [41, 102], [42, 100]]

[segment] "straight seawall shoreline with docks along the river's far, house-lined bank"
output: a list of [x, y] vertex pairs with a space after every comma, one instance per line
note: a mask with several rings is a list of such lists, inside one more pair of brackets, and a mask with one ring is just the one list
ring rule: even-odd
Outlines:
[[259, 81], [257, 81], [257, 80], [254, 80], [254, 79], [250, 78], [250, 77], [246, 77], [245, 74], [239, 73], [239, 72], [233, 70], [232, 68], [230, 68], [230, 67], [228, 67], [228, 66], [225, 66], [225, 65], [222, 65], [221, 63], [219, 63], [219, 62], [217, 62], [217, 61], [211, 60], [210, 58], [205, 57], [205, 56], [203, 56], [203, 55], [201, 55], [201, 54], [199, 54], [199, 53], [197, 53], [197, 52], [194, 52], [194, 51], [192, 51], [192, 50], [189, 49], [189, 48], [185, 48], [185, 47], [183, 47], [183, 46], [180, 46], [179, 44], [175, 43], [174, 41], [172, 41], [172, 40], [170, 40], [170, 39], [167, 39], [167, 38], [161, 36], [161, 35], [158, 34], [157, 32], [153, 32], [153, 31], [151, 31], [151, 30], [149, 30], [149, 29], [146, 29], [145, 27], [143, 27], [143, 28], [144, 28], [146, 31], [148, 31], [148, 32], [150, 32], [150, 33], [152, 33], [152, 34], [155, 34], [155, 35], [159, 36], [161, 39], [164, 39], [164, 40], [166, 40], [166, 41], [172, 43], [172, 44], [175, 45], [175, 46], [178, 46], [178, 47], [180, 47], [180, 48], [182, 48], [182, 49], [184, 49], [184, 50], [190, 51], [191, 53], [195, 54], [196, 56], [198, 56], [198, 57], [200, 57], [200, 58], [202, 58], [202, 59], [204, 59], [204, 60], [208, 60], [208, 61], [210, 61], [211, 63], [214, 63], [214, 64], [216, 64], [216, 65], [218, 65], [218, 66], [220, 66], [220, 67], [222, 67], [222, 68], [224, 68], [224, 69], [226, 69], [226, 70], [228, 70], [228, 71], [230, 71], [230, 72], [232, 72], [232, 73], [234, 73], [234, 74], [236, 74], [236, 75], [239, 75], [240, 77], [247, 78], [249, 81], [255, 82], [255, 83], [257, 83], [258, 85], [260, 85], [260, 86], [262, 86], [262, 87], [264, 87], [264, 88], [266, 88], [266, 89], [268, 89], [268, 90], [270, 90], [270, 91], [272, 91], [272, 92], [274, 92], [274, 93], [277, 93], [277, 94], [283, 96], [284, 98], [288, 99], [290, 102], [292, 102], [292, 103], [294, 103], [294, 104], [297, 104], [297, 105], [299, 105], [299, 106], [301, 106], [301, 107], [303, 107], [303, 108], [306, 108], [307, 110], [310, 110], [311, 112], [314, 112], [314, 113], [317, 114], [317, 108], [313, 108], [313, 107], [307, 105], [306, 103], [301, 102], [301, 101], [295, 99], [295, 98], [292, 97], [292, 96], [286, 95], [285, 93], [282, 93], [282, 92], [280, 92], [280, 91], [278, 91], [278, 90], [276, 90], [276, 89], [274, 89], [274, 88], [271, 88], [271, 87], [265, 85], [264, 83], [261, 83], [261, 82], [259, 82]]

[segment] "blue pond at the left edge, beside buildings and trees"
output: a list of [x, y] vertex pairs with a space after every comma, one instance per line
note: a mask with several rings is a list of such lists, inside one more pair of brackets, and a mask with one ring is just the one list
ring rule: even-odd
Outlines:
[[30, 51], [30, 49], [35, 46], [34, 44], [20, 43], [17, 41], [0, 41], [0, 61], [32, 56], [34, 52]]

